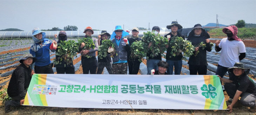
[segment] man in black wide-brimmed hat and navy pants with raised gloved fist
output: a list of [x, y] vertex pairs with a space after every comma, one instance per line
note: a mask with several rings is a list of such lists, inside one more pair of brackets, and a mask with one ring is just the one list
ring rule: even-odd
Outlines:
[[[178, 29], [181, 29], [182, 26], [178, 24], [177, 21], [171, 22], [171, 25], [166, 26], [167, 29], [171, 29], [171, 32], [164, 35], [167, 39], [169, 39], [169, 42], [171, 41], [172, 37], [182, 37], [185, 40], [185, 37], [181, 35], [181, 33], [178, 33]], [[181, 74], [181, 68], [182, 68], [182, 53], [180, 52], [177, 56], [171, 56], [171, 46], [166, 45], [167, 52], [166, 52], [166, 62], [169, 64], [169, 67], [167, 69], [167, 73], [169, 75], [173, 74], [173, 67], [174, 67], [174, 74], [180, 75]]]

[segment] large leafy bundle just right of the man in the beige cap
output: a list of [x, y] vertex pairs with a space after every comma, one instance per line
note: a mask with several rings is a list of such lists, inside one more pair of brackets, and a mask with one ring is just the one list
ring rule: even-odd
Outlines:
[[[142, 37], [142, 42], [144, 43], [144, 48], [147, 49], [147, 52], [151, 52], [150, 57], [156, 57], [159, 53], [162, 54], [164, 51], [166, 51], [165, 45], [168, 44], [167, 38], [150, 31], [143, 34], [144, 36]], [[152, 43], [152, 45], [148, 48], [147, 46], [150, 43]]]

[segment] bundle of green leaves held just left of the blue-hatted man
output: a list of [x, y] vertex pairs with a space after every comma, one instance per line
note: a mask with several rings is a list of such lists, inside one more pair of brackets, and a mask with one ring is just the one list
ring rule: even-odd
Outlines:
[[115, 50], [115, 44], [111, 42], [110, 39], [105, 39], [102, 41], [102, 45], [99, 46], [99, 54], [98, 57], [100, 59], [103, 59], [103, 57], [106, 57], [108, 55], [108, 48], [114, 48], [114, 51], [110, 52], [110, 57], [114, 57], [114, 55], [117, 56], [116, 50]]

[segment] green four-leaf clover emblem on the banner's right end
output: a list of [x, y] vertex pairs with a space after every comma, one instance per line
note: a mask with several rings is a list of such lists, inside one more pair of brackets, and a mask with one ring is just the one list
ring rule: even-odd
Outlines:
[[217, 93], [215, 92], [216, 91], [216, 87], [214, 87], [211, 84], [208, 84], [208, 87], [207, 87], [206, 84], [204, 84], [203, 87], [201, 87], [201, 90], [202, 91], [206, 91], [206, 92], [202, 92], [202, 95], [204, 97], [206, 97], [207, 99], [210, 98], [210, 100], [213, 100], [217, 96]]

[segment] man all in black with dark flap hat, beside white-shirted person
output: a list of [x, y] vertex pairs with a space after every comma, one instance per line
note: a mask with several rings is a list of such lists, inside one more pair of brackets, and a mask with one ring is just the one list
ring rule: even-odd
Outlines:
[[[197, 55], [192, 55], [189, 57], [189, 74], [190, 75], [206, 75], [207, 74], [207, 60], [206, 51], [211, 51], [210, 46], [210, 35], [204, 30], [201, 24], [195, 24], [193, 30], [188, 35], [187, 41], [190, 41], [192, 45], [196, 46], [195, 52], [199, 51]], [[198, 44], [203, 42], [206, 44], [206, 48], [197, 47]]]

